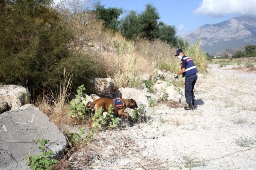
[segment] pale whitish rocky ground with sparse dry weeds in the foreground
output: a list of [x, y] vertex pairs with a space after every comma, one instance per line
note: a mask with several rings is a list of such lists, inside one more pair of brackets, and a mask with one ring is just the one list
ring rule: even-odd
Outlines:
[[256, 169], [256, 72], [209, 64], [195, 86], [194, 111], [152, 107], [147, 123], [97, 133], [71, 167], [127, 170]]

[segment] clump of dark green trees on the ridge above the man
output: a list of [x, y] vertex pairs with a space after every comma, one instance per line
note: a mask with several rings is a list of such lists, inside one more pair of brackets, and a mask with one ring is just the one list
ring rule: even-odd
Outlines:
[[120, 29], [130, 39], [138, 36], [149, 40], [159, 38], [173, 47], [184, 47], [184, 41], [176, 36], [175, 26], [167, 25], [159, 19], [158, 10], [152, 4], [146, 4], [145, 10], [139, 14], [128, 12], [121, 20]]

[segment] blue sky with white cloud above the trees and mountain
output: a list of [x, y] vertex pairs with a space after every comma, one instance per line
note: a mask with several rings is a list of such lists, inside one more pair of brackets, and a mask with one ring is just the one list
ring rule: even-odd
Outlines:
[[[93, 2], [95, 0], [91, 0]], [[177, 34], [236, 16], [256, 18], [256, 0], [100, 0], [100, 3], [105, 8], [123, 8], [138, 13], [145, 10], [147, 3], [151, 3], [158, 10], [160, 21], [174, 25]]]

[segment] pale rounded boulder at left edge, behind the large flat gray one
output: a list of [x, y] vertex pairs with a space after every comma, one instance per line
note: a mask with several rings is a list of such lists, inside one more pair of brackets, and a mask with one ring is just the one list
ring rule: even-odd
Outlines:
[[18, 109], [30, 100], [30, 92], [17, 85], [0, 85], [0, 98], [8, 103], [11, 110]]

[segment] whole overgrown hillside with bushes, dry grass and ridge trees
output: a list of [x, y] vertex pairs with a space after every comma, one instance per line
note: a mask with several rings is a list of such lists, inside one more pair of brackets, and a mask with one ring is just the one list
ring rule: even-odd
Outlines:
[[[160, 22], [152, 4], [144, 12], [128, 13], [119, 23], [116, 18], [122, 9], [106, 9], [98, 3], [89, 10], [81, 3], [2, 0], [0, 84], [24, 86], [32, 94], [32, 103], [44, 103], [55, 108], [51, 112], [66, 114], [63, 106], [68, 94], [82, 84], [86, 93], [93, 93], [91, 80], [96, 77], [113, 78], [115, 88], [133, 88], [142, 83], [140, 75], [145, 72], [152, 82], [156, 69], [178, 72], [180, 61], [174, 57], [178, 48], [193, 58], [199, 72], [206, 71], [207, 56], [200, 42], [188, 45], [177, 39], [175, 27]], [[101, 18], [101, 12], [109, 11], [115, 17]], [[136, 25], [124, 28], [132, 20], [140, 28], [133, 31], [136, 36], [128, 33]]]

